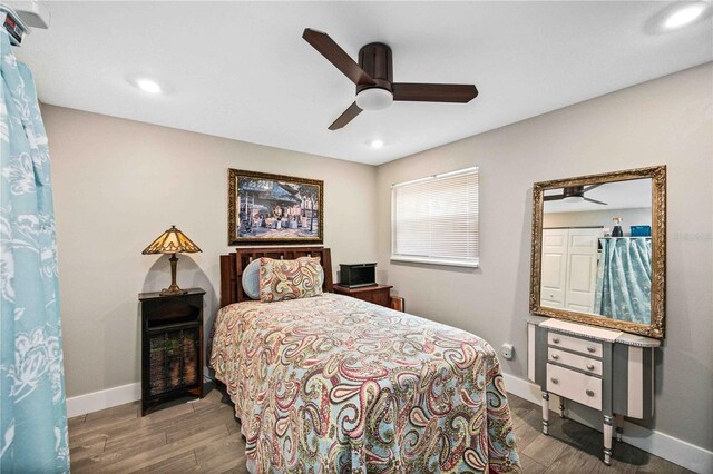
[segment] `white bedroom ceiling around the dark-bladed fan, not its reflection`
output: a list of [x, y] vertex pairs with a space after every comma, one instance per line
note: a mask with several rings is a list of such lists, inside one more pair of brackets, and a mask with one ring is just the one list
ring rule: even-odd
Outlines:
[[[47, 103], [382, 164], [713, 60], [711, 17], [653, 31], [661, 1], [49, 2], [17, 50]], [[397, 82], [475, 82], [468, 105], [395, 102], [326, 127], [354, 86], [301, 36], [393, 51]], [[148, 96], [137, 76], [167, 93]], [[382, 138], [385, 146], [371, 149]], [[198, 150], [196, 150], [198, 151]]]

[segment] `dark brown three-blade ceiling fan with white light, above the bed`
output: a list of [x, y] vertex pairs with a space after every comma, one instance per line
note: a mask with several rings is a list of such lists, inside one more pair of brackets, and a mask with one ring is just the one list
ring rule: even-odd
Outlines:
[[391, 48], [381, 42], [362, 47], [356, 63], [326, 33], [306, 28], [302, 38], [356, 85], [356, 100], [330, 130], [344, 127], [362, 110], [385, 109], [394, 100], [466, 103], [478, 96], [473, 85], [393, 82]]

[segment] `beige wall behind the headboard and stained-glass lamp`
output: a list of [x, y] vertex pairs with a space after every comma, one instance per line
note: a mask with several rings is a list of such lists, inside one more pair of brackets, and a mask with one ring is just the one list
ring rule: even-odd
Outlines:
[[[202, 249], [178, 285], [207, 290], [211, 327], [227, 246], [227, 169], [324, 180], [335, 264], [374, 261], [375, 168], [58, 107], [42, 108], [52, 155], [67, 396], [140, 379], [139, 292], [170, 280], [141, 250], [172, 224]], [[344, 213], [344, 209], [349, 209]], [[207, 330], [206, 330], [207, 333]]]

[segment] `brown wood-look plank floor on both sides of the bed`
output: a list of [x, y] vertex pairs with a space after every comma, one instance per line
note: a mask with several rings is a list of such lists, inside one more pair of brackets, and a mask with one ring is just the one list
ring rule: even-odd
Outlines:
[[[222, 389], [206, 388], [201, 401], [164, 404], [145, 417], [135, 402], [69, 419], [72, 473], [247, 473], [233, 405]], [[608, 467], [599, 432], [553, 414], [545, 436], [539, 405], [508, 399], [525, 473], [690, 472], [624, 443], [615, 443]]]

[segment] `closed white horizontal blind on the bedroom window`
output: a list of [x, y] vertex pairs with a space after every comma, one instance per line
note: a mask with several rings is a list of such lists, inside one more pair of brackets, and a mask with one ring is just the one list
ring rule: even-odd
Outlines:
[[478, 266], [478, 168], [391, 187], [391, 259]]

